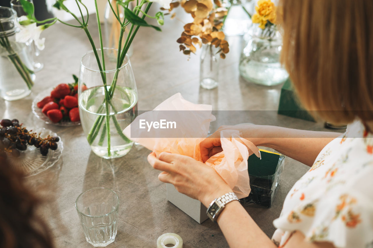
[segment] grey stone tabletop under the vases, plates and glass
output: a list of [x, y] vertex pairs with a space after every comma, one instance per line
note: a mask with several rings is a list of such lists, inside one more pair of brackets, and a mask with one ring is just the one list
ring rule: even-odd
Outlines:
[[[153, 7], [156, 11], [156, 6]], [[182, 19], [186, 15], [179, 9], [178, 17]], [[276, 114], [281, 85], [264, 87], [247, 83], [239, 77], [242, 37], [228, 37], [231, 51], [220, 63], [219, 86], [213, 90], [200, 88], [199, 52], [188, 60], [179, 52], [176, 43], [183, 25], [178, 20], [166, 19], [162, 32], [140, 28], [134, 39], [131, 63], [140, 110], [151, 110], [164, 99], [181, 92], [186, 100], [211, 104], [214, 110], [247, 110], [250, 112], [242, 113], [252, 114], [250, 118], [242, 116], [242, 119], [218, 117], [211, 125], [211, 131], [222, 124], [242, 122], [324, 130], [323, 123]], [[90, 29], [97, 42], [95, 22], [91, 22]], [[36, 74], [31, 95], [13, 102], [0, 100], [0, 117], [18, 118], [26, 127], [45, 127], [63, 140], [60, 161], [47, 171], [27, 179], [30, 187], [47, 197], [41, 213], [53, 231], [56, 247], [91, 247], [85, 241], [75, 200], [80, 193], [93, 187], [110, 188], [119, 195], [118, 233], [115, 242], [108, 247], [156, 247], [157, 238], [166, 232], [178, 233], [184, 240], [184, 248], [228, 247], [217, 224], [206, 220], [200, 225], [166, 200], [166, 185], [158, 180], [159, 171], [147, 162], [149, 150], [134, 146], [122, 158], [101, 159], [91, 152], [81, 126], [44, 124], [32, 114], [34, 97], [58, 83], [72, 82], [71, 75], [79, 73], [80, 58], [91, 50], [84, 31], [62, 24], [48, 28], [42, 37], [46, 37], [46, 48], [38, 60], [44, 63], [44, 69]], [[268, 236], [275, 230], [272, 221], [279, 216], [286, 194], [307, 170], [307, 166], [286, 158], [272, 207], [245, 207]]]

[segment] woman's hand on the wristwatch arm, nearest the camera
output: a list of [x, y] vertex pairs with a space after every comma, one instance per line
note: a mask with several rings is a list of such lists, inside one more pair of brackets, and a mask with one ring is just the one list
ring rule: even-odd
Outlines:
[[228, 184], [208, 165], [184, 155], [162, 152], [159, 158], [150, 153], [148, 162], [163, 171], [158, 178], [171, 183], [180, 193], [201, 201], [208, 207], [215, 198], [232, 192]]

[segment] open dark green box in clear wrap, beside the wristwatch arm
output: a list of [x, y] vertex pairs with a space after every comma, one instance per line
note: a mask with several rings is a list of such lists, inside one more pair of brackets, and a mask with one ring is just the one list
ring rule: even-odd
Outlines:
[[285, 156], [260, 149], [261, 159], [251, 155], [248, 162], [250, 194], [239, 201], [242, 205], [258, 204], [271, 207], [280, 183]]

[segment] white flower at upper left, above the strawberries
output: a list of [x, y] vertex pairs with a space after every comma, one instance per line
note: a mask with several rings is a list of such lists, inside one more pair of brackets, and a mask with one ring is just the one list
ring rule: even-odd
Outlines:
[[[26, 16], [21, 16], [19, 18], [19, 22], [27, 21], [28, 18]], [[17, 26], [20, 29], [18, 33], [16, 33], [16, 41], [17, 42], [28, 42], [32, 39], [35, 42], [35, 45], [39, 50], [44, 49], [44, 42], [46, 38], [40, 39], [41, 32], [45, 29], [44, 25], [36, 26], [36, 23], [31, 23], [29, 25], [20, 25], [17, 22]]]

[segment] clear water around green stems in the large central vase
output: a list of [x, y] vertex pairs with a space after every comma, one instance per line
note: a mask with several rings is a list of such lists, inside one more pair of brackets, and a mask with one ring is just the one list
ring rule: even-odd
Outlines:
[[[110, 86], [107, 87], [110, 91]], [[133, 142], [122, 131], [137, 116], [137, 92], [116, 86], [110, 104], [105, 103], [104, 86], [85, 90], [79, 95], [79, 115], [88, 143], [102, 158], [118, 158], [131, 150]], [[108, 114], [107, 114], [108, 113]], [[107, 135], [109, 117], [110, 135]], [[110, 141], [108, 142], [108, 137]], [[110, 154], [108, 151], [110, 143]]]

